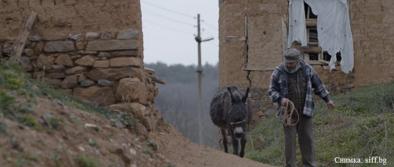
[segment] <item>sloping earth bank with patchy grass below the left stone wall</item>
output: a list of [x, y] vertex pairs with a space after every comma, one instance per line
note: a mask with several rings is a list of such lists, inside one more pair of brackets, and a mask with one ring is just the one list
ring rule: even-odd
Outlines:
[[141, 126], [0, 62], [0, 167], [173, 166]]

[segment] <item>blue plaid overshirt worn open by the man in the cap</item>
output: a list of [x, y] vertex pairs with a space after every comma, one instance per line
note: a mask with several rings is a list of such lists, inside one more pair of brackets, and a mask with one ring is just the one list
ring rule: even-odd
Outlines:
[[[313, 102], [312, 92], [322, 98], [325, 102], [329, 101], [328, 91], [316, 71], [303, 60], [299, 60], [306, 81], [306, 97], [302, 114], [313, 117], [315, 103]], [[269, 98], [277, 103], [277, 109], [280, 108], [280, 102], [283, 98], [289, 98], [288, 83], [286, 78], [284, 63], [279, 64], [271, 75], [269, 83]]]

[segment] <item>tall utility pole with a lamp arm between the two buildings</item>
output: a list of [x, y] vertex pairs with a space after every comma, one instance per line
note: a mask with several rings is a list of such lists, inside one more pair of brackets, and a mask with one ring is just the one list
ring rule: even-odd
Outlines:
[[201, 69], [201, 42], [210, 41], [213, 38], [207, 38], [201, 40], [200, 34], [200, 14], [197, 14], [197, 36], [194, 38], [198, 44], [198, 67], [197, 67], [197, 75], [198, 75], [198, 141], [201, 145], [203, 145], [202, 140], [202, 90], [201, 90], [201, 77], [202, 77], [202, 69]]

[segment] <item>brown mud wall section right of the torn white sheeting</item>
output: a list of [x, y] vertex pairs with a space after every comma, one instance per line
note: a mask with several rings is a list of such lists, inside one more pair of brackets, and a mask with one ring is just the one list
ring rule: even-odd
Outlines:
[[394, 1], [352, 0], [355, 83], [382, 83], [394, 77]]

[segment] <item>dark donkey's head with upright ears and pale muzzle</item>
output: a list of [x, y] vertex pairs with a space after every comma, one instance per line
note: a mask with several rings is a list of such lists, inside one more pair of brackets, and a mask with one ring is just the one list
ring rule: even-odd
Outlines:
[[230, 125], [234, 131], [236, 138], [241, 138], [246, 131], [247, 112], [248, 112], [248, 94], [249, 88], [246, 89], [245, 94], [234, 94], [231, 92], [230, 87], [227, 88], [228, 95], [230, 96]]

